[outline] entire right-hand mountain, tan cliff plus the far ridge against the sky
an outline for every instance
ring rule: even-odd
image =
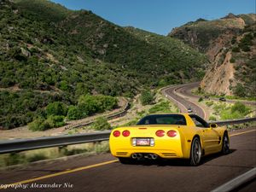
[[[255,14],[199,19],[173,29],[168,36],[207,55],[211,64],[201,81],[203,90],[217,95],[255,96],[255,21]]]

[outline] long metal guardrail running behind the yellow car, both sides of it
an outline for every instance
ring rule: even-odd
[[[235,119],[224,121],[212,121],[217,125],[235,125],[256,121],[256,118]],[[96,133],[84,133],[71,136],[38,137],[31,139],[15,139],[7,142],[0,142],[0,154],[14,153],[37,148],[61,147],[79,143],[95,143],[108,141],[110,131]]]

